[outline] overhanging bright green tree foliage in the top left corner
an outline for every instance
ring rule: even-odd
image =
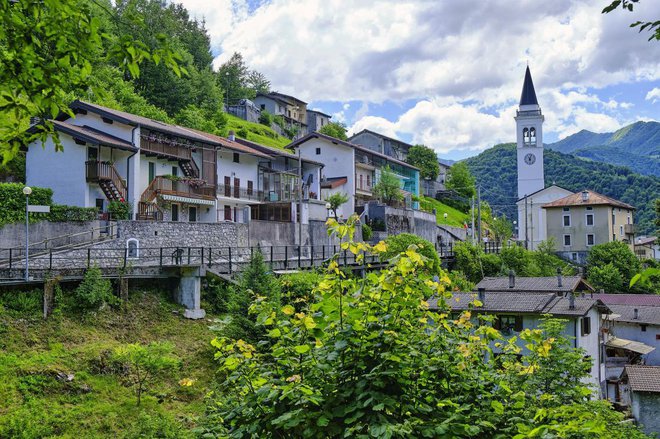
[[[109,9],[108,14],[114,15]],[[10,160],[19,148],[53,136],[52,123],[68,108],[70,92],[93,87],[92,66],[99,59],[116,62],[133,77],[140,64],[163,63],[180,75],[181,57],[164,34],[155,34],[157,45],[148,48],[132,35],[112,38],[100,31],[100,20],[90,4],[77,0],[0,1],[0,155]],[[105,45],[104,45],[105,44]],[[185,73],[185,72],[184,72]],[[30,117],[45,122],[27,132]]]

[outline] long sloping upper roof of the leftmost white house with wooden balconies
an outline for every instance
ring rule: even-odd
[[[213,140],[209,139],[208,137],[198,132],[195,132],[189,128],[182,127],[179,125],[160,122],[155,119],[149,119],[148,117],[138,116],[136,114],[115,110],[112,108],[104,107],[102,105],[92,104],[81,100],[76,100],[72,102],[70,106],[74,110],[91,111],[92,113],[99,114],[102,117],[107,117],[108,119],[115,120],[117,122],[121,122],[127,125],[134,125],[134,126],[140,125],[145,128],[171,134],[174,136],[179,136],[189,140],[215,145],[215,142],[213,142]],[[69,117],[68,115],[62,115],[61,117],[58,117],[58,120],[64,120],[67,119],[68,117]]]

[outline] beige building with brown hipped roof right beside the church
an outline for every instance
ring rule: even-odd
[[[560,256],[584,263],[597,244],[622,241],[634,250],[635,225],[629,204],[583,190],[545,204],[547,236],[554,238]]]

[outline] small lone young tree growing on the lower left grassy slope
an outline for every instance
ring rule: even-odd
[[[172,354],[171,343],[152,342],[148,345],[133,343],[115,348],[113,358],[126,367],[126,377],[135,388],[137,405],[140,406],[142,394],[158,378],[177,368],[180,361]]]

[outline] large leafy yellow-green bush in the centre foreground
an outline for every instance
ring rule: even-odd
[[[343,239],[352,221],[330,226]],[[387,245],[349,240],[342,249],[361,260]],[[515,338],[503,339],[492,318],[474,317],[478,301],[451,315],[449,280],[444,273],[434,280],[427,263],[409,248],[387,268],[354,278],[333,259],[305,309],[256,303],[271,342],[259,351],[243,340],[212,341],[220,382],[206,428],[233,438],[537,436],[533,431],[596,438],[620,421],[583,406],[590,404],[580,382],[583,353],[561,336],[561,322],[525,330],[530,361],[521,359]],[[437,310],[427,306],[429,297]],[[617,439],[643,437],[632,426],[612,431]]]

